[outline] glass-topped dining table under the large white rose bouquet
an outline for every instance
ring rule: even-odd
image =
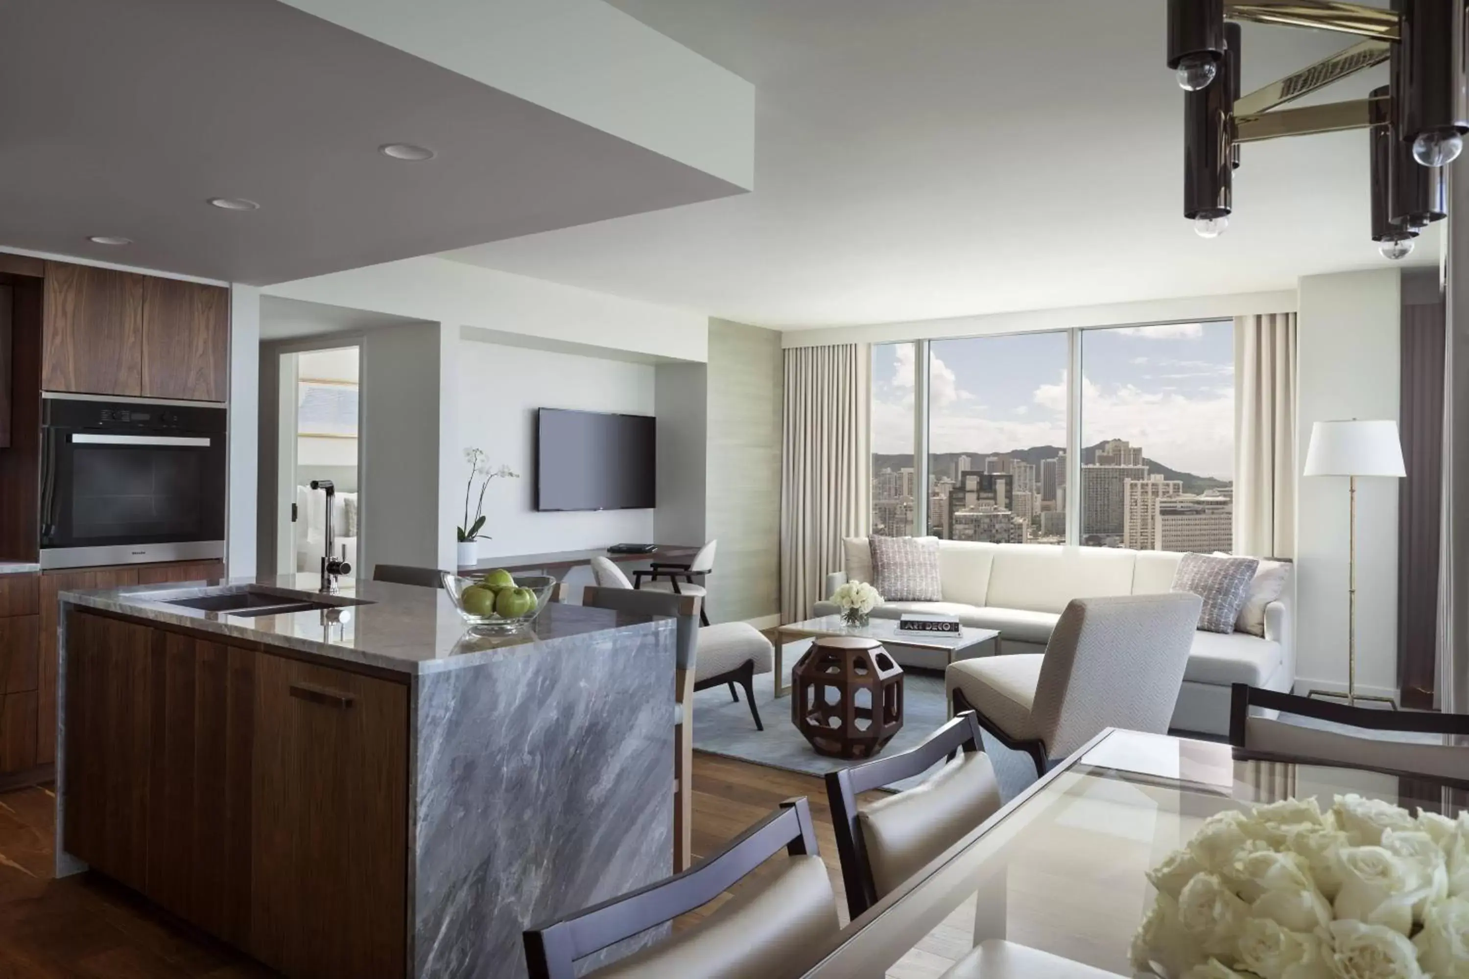
[[[1103,731],[852,922],[806,976],[937,979],[992,938],[1133,976],[1128,947],[1155,897],[1144,873],[1205,819],[1307,796],[1327,809],[1349,793],[1409,812],[1453,815],[1463,803],[1429,778]]]

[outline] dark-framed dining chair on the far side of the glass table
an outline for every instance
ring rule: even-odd
[[[1252,707],[1277,716],[1259,716],[1252,713]],[[1278,715],[1309,718],[1318,724],[1293,724]],[[1394,738],[1394,734],[1418,737]],[[1463,740],[1456,741],[1454,735]],[[1469,715],[1463,713],[1357,707],[1234,684],[1230,744],[1249,754],[1469,782]]]

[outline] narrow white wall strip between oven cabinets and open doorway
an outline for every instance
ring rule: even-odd
[[[254,577],[260,451],[260,289],[229,289],[229,577]]]

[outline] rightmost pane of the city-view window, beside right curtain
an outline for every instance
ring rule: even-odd
[[[1081,543],[1230,550],[1234,324],[1081,332]]]

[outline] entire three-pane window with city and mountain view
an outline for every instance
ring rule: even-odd
[[[876,343],[871,442],[874,534],[1230,550],[1232,323]]]

